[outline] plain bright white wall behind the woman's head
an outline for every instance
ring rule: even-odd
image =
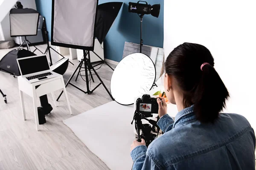
[[[165,56],[183,42],[206,46],[231,97],[228,113],[256,129],[256,1],[165,0]]]

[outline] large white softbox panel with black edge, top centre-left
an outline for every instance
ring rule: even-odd
[[[93,50],[98,0],[52,0],[52,45]]]

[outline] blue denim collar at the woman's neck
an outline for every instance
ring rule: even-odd
[[[182,125],[186,122],[195,121],[195,113],[194,113],[194,105],[190,106],[189,108],[185,108],[182,111],[178,112],[175,116],[175,122],[173,124],[174,128],[177,125]]]

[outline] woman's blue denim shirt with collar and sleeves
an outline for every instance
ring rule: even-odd
[[[241,115],[220,113],[201,123],[191,106],[157,125],[164,134],[131,151],[133,170],[255,170],[254,131]]]

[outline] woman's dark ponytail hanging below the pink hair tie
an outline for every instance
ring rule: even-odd
[[[216,70],[209,64],[202,67],[202,76],[195,90],[194,111],[200,122],[214,122],[225,108],[229,93]]]

